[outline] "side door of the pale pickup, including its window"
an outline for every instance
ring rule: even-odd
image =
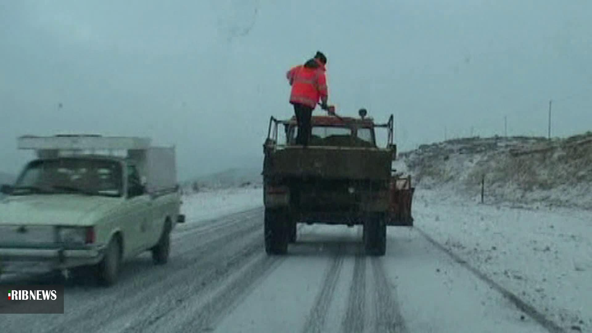
[[[141,184],[136,167],[128,165],[127,178],[127,228],[130,252],[137,254],[146,250],[150,244],[150,233],[153,233],[152,203],[153,200],[146,193]]]

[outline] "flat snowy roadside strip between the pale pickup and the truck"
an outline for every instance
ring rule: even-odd
[[[215,219],[263,206],[263,190],[256,188],[226,188],[186,193],[182,197],[181,212],[187,223]]]

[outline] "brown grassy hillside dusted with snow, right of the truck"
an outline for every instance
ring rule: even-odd
[[[466,138],[400,154],[418,188],[480,200],[592,209],[592,133],[567,139]]]

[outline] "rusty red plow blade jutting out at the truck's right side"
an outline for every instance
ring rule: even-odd
[[[391,182],[391,197],[388,207],[388,221],[390,226],[413,226],[411,216],[411,201],[415,188],[411,187],[411,176],[397,178]]]

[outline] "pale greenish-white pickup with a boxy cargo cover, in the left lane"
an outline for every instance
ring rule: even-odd
[[[0,273],[67,270],[109,286],[144,251],[168,261],[170,232],[185,222],[174,146],[56,135],[21,136],[18,148],[37,158],[1,188]]]

